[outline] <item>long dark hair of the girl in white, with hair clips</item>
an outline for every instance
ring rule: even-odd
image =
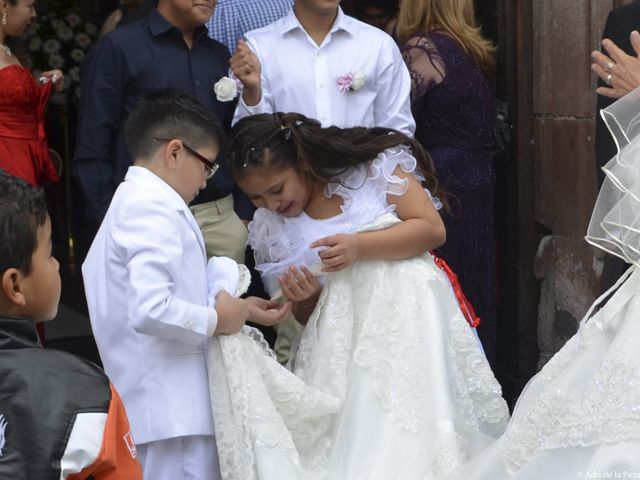
[[[398,145],[411,149],[425,178],[423,186],[441,197],[429,154],[413,138],[389,128],[322,128],[299,113],[253,115],[231,130],[226,160],[235,178],[246,175],[249,167],[280,170],[305,165],[316,179],[329,182]]]

